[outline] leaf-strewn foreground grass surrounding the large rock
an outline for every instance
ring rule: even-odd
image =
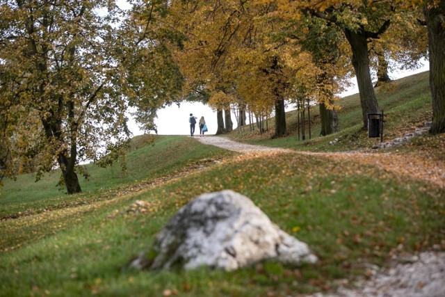
[[[203,179],[205,177],[205,179]],[[204,180],[204,182],[203,182]],[[122,270],[179,207],[231,188],[312,247],[314,266],[258,264],[221,271]],[[41,226],[46,233],[0,255],[2,296],[265,296],[310,293],[364,273],[397,252],[444,240],[445,191],[355,163],[299,154],[236,156],[165,184],[111,200],[2,222],[3,247]],[[151,207],[129,211],[135,200]],[[58,227],[63,225],[63,227]],[[168,291],[169,290],[169,291]]]

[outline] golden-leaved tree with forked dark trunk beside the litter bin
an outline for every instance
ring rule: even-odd
[[[276,1],[282,16],[300,18],[302,13],[325,19],[343,31],[352,51],[364,127],[367,114],[377,113],[369,65],[368,42],[380,38],[391,23],[394,8],[389,1]]]

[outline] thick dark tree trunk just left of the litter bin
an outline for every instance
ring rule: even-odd
[[[375,97],[373,81],[369,68],[369,52],[366,33],[362,30],[344,30],[351,50],[353,51],[353,66],[359,88],[360,104],[362,105],[363,127],[368,126],[368,113],[378,113],[377,97]]]

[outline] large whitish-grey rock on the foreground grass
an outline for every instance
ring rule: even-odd
[[[226,271],[264,259],[314,263],[306,243],[280,230],[253,202],[234,191],[200,195],[165,225],[154,246],[130,263],[133,268],[196,268]]]

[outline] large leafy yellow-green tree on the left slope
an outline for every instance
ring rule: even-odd
[[[106,165],[122,153],[127,105],[147,94],[140,77],[154,71],[143,66],[147,56],[162,59],[149,50],[161,43],[147,42],[136,19],[119,35],[125,15],[114,1],[2,1],[0,15],[0,99],[10,135],[41,154],[38,176],[58,166],[67,193],[79,193],[79,162]],[[145,51],[133,47],[143,44]],[[13,120],[26,125],[11,127]]]

